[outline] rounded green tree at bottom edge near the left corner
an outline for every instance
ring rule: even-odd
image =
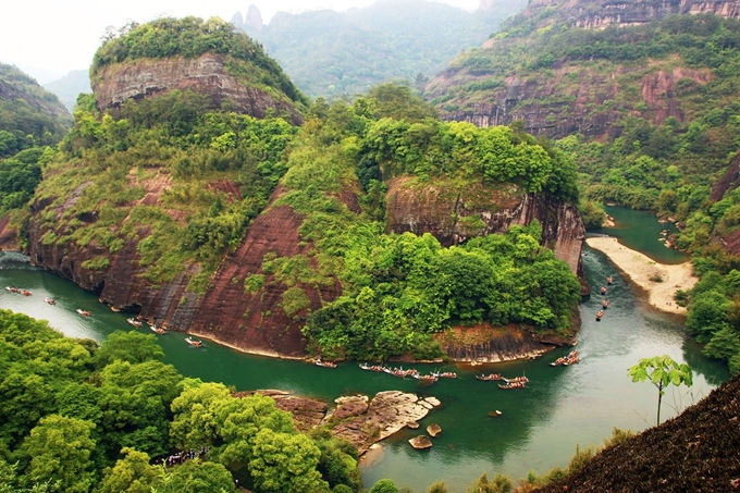
[[[91,459],[95,424],[51,415],[41,418],[24,441],[22,452],[30,458],[27,476],[49,481],[51,491],[87,493],[96,480]]]

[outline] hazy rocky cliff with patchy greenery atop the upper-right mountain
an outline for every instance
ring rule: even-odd
[[[445,120],[483,127],[520,120],[527,132],[551,138],[574,133],[616,137],[620,130],[615,123],[626,115],[654,124],[669,116],[684,122],[701,110],[696,95],[715,78],[711,67],[682,61],[678,46],[670,56],[639,54],[644,61],[634,63],[642,49],[638,46],[651,36],[648,32],[631,37],[626,32],[613,33],[608,42],[575,32],[641,26],[674,14],[703,13],[738,19],[740,3],[533,0],[499,35],[479,50],[460,54],[432,79],[425,97]],[[568,32],[572,49],[560,46],[547,52],[543,36],[555,37],[553,33],[559,32]],[[609,44],[634,47],[619,53],[613,47],[599,51]]]

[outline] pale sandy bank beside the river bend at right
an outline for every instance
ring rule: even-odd
[[[663,311],[686,313],[686,308],[676,305],[674,294],[678,289],[690,289],[699,281],[699,278],[693,275],[691,262],[676,266],[657,263],[612,237],[588,238],[585,243],[591,248],[606,254],[612,263],[617,266],[634,284],[643,288],[652,306]],[[663,282],[651,281],[651,278],[656,276],[659,276]]]

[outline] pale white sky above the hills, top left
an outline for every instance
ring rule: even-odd
[[[393,2],[394,0],[384,0]],[[435,0],[473,10],[479,0]],[[40,84],[72,70],[87,70],[108,26],[157,17],[231,21],[246,14],[250,4],[267,24],[278,11],[346,10],[367,7],[373,0],[8,0],[0,10],[0,62],[16,65]]]

